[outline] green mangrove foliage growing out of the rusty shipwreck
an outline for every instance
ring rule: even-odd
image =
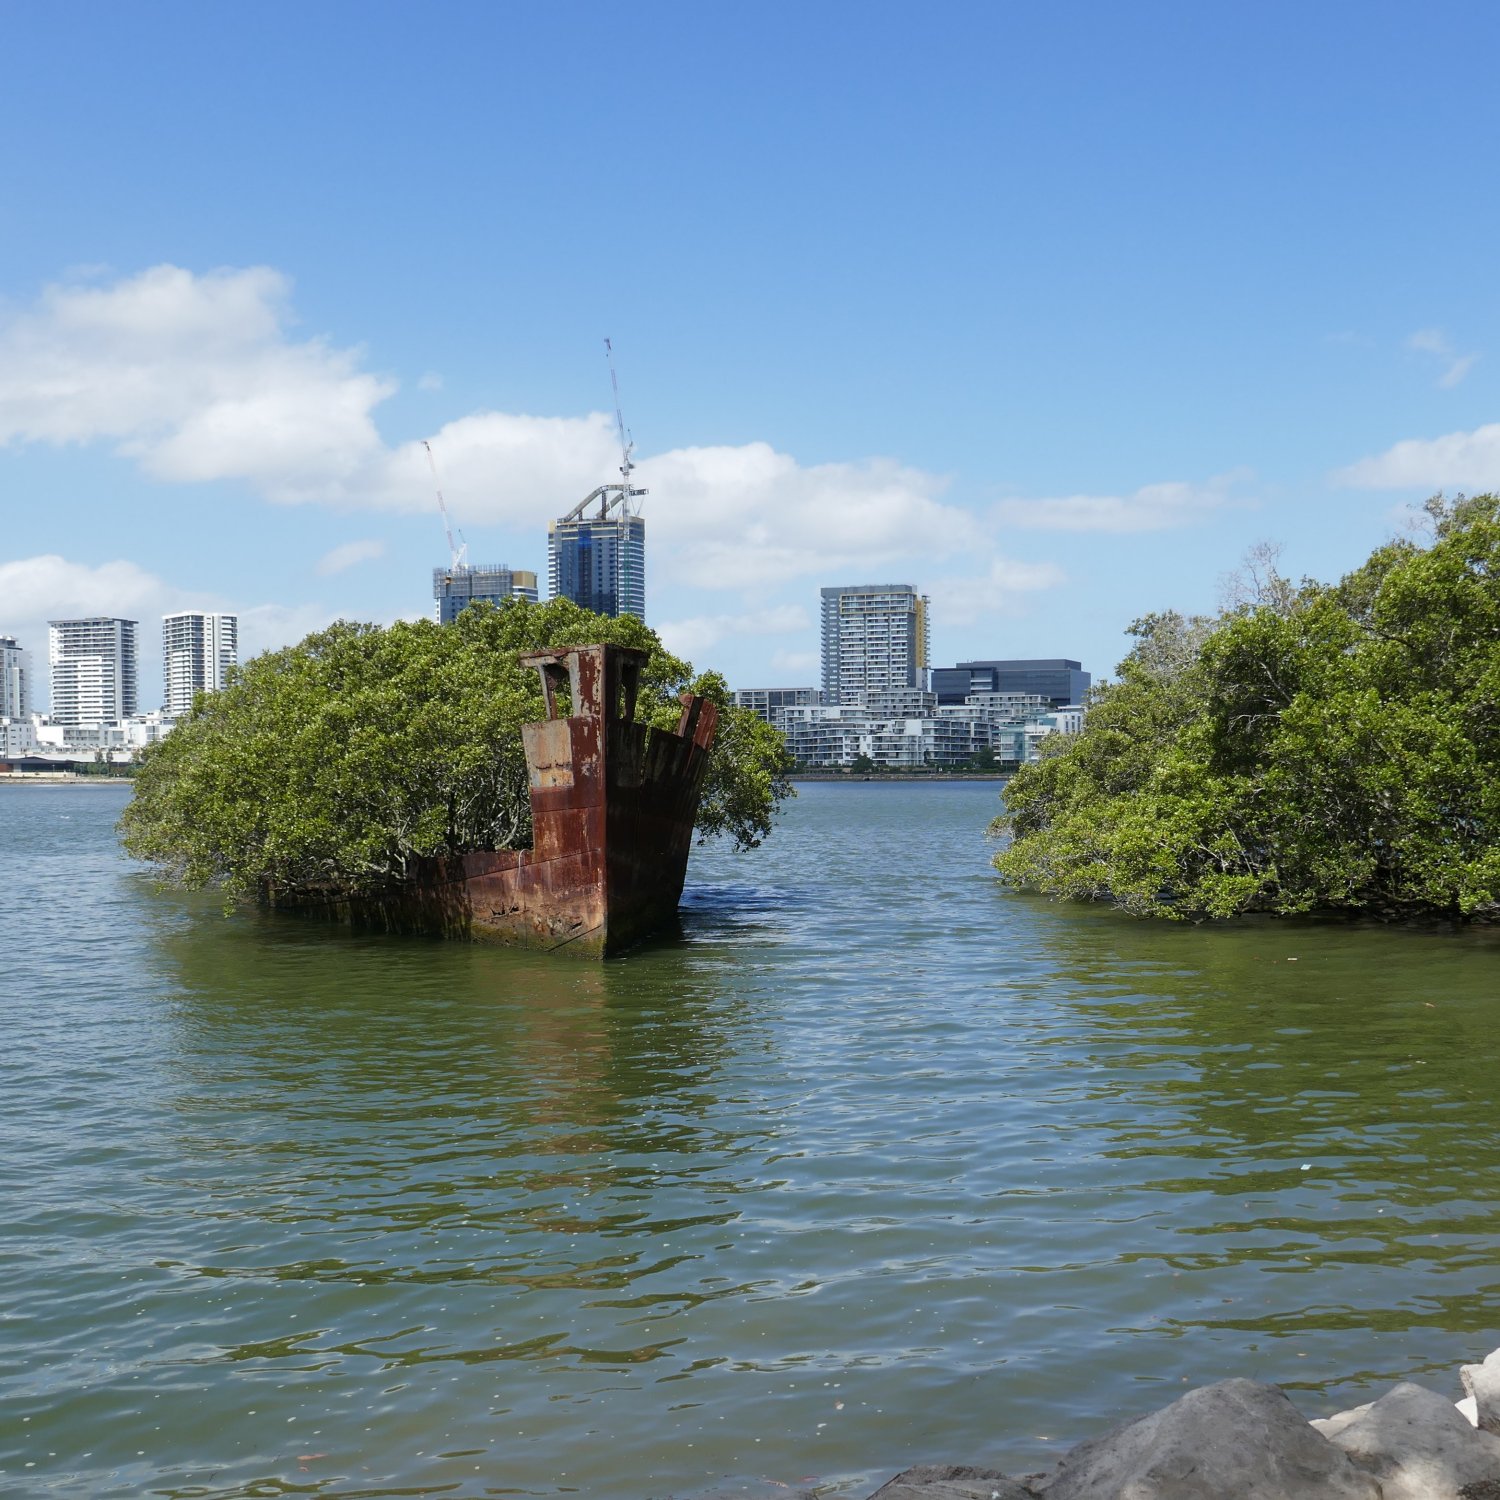
[[[778,730],[633,616],[510,600],[452,626],[339,622],[256,657],[146,754],[124,846],[172,884],[261,902],[376,892],[423,856],[525,848],[520,726],[546,714],[516,656],[594,642],[650,652],[645,723],[675,729],[682,692],[718,706],[698,831],[759,843],[790,792]]]

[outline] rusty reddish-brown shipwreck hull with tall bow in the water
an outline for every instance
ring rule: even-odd
[[[393,891],[321,915],[590,957],[674,926],[718,710],[684,693],[675,730],[636,723],[646,652],[630,646],[520,662],[542,674],[546,699],[546,718],[522,728],[532,846],[424,860]]]

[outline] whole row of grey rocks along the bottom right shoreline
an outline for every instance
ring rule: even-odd
[[[1048,1473],[924,1464],[868,1500],[1500,1500],[1500,1348],[1460,1380],[1458,1402],[1402,1382],[1312,1420],[1278,1386],[1221,1380],[1080,1443]]]

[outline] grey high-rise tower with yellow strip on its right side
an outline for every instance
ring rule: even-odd
[[[854,584],[822,592],[825,704],[926,690],[932,652],[926,594],[910,584]]]

